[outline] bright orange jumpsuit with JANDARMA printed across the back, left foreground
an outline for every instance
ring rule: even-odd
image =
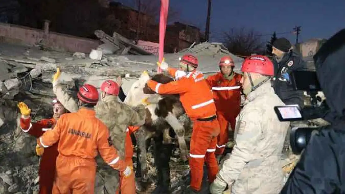
[[[106,125],[95,114],[87,108],[63,114],[54,129],[37,140],[45,148],[59,141],[54,194],[94,193],[97,150],[115,170],[122,173],[126,169],[125,162],[120,160],[112,145]]]

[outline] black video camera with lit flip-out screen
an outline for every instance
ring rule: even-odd
[[[293,71],[292,84],[295,90],[306,91],[311,97],[311,105],[301,109],[296,105],[275,106],[279,121],[302,121],[323,118],[329,110],[326,101],[322,101],[317,93],[321,91],[315,71]],[[290,133],[290,145],[294,154],[300,154],[312,135],[319,127],[293,127]]]

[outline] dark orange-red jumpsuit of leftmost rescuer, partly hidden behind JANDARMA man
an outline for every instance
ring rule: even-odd
[[[29,118],[20,118],[20,128],[23,132],[38,138],[56,124],[55,119],[42,119],[37,123],[31,123]],[[41,156],[40,167],[38,170],[40,194],[51,194],[55,177],[55,164],[58,157],[58,144],[47,147]]]

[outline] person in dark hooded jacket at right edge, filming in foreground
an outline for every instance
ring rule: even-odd
[[[309,140],[280,194],[345,193],[345,29],[314,56],[317,78],[326,96],[328,126]]]

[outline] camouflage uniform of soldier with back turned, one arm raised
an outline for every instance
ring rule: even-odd
[[[69,94],[62,89],[62,85],[58,81],[60,70],[58,68],[53,80],[53,92],[57,96],[57,99],[63,104],[70,112],[77,112],[79,109],[78,104],[69,96]],[[109,83],[114,81],[107,80]],[[107,85],[105,81],[102,85]],[[120,159],[124,160],[125,157],[125,141],[126,141],[126,129],[127,126],[141,126],[145,123],[146,111],[144,105],[138,105],[134,110],[127,104],[123,104],[118,101],[117,95],[109,95],[108,87],[101,88],[101,101],[95,106],[96,117],[100,119],[109,129],[109,134],[112,144],[118,150]],[[118,90],[118,89],[117,89]],[[118,94],[118,91],[117,91]],[[99,174],[96,176],[96,187],[98,184],[102,184],[100,176],[104,180],[104,192],[113,194],[117,192],[119,183],[119,173],[111,169],[109,165],[103,162],[98,156],[97,171]],[[132,185],[135,188],[135,185]],[[99,188],[95,188],[95,193]],[[131,194],[131,193],[128,193]],[[133,193],[134,194],[134,193]]]

